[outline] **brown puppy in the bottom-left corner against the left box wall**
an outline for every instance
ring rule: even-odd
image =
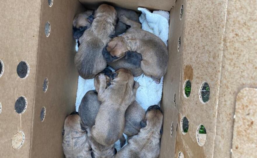
[[[62,148],[66,158],[91,157],[87,132],[81,124],[78,114],[72,113],[65,118]]]

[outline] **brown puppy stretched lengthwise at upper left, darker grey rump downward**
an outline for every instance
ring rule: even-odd
[[[79,50],[75,55],[75,67],[84,79],[94,78],[107,66],[102,51],[114,34],[116,25],[116,10],[107,4],[102,4],[95,11],[94,20],[89,29],[79,38]]]

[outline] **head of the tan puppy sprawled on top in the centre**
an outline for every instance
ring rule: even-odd
[[[128,69],[118,69],[115,72],[112,72],[112,82],[133,82],[134,84],[134,78],[133,75],[131,73],[131,71],[129,71]]]

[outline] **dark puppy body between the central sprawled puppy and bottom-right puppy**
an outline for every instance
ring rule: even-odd
[[[125,112],[124,134],[133,136],[138,134],[141,129],[140,122],[145,119],[145,110],[135,101]]]

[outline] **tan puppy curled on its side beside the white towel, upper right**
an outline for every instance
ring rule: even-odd
[[[103,52],[104,56],[110,56],[107,62],[116,61],[129,51],[138,52],[142,55],[140,66],[144,74],[159,83],[168,66],[166,45],[159,37],[142,30],[140,23],[129,20],[125,16],[121,16],[119,21],[130,25],[131,28],[108,43],[107,52]]]

